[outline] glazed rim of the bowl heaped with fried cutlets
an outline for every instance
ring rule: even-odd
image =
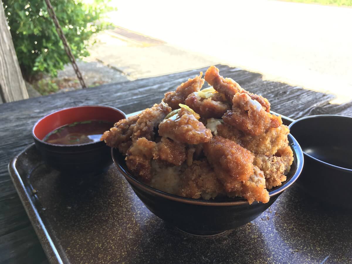
[[[300,146],[300,144],[298,144],[297,140],[291,134],[289,134],[289,137],[292,140],[292,143],[290,143],[289,145],[293,149],[294,157],[296,157],[296,162],[297,162],[296,172],[288,181],[285,181],[281,186],[275,187],[274,190],[269,191],[270,197],[276,196],[276,195],[282,193],[288,187],[290,187],[297,180],[298,176],[300,176],[302,169],[303,169],[304,159],[303,159],[303,151],[301,149],[301,146]],[[169,200],[179,201],[179,202],[183,202],[183,203],[190,203],[190,204],[194,204],[194,205],[231,206],[231,205],[249,204],[248,201],[245,200],[244,198],[239,198],[236,201],[233,201],[233,200],[232,201],[201,200],[201,199],[186,198],[186,197],[182,197],[182,196],[178,196],[178,195],[174,195],[174,194],[169,194],[169,193],[165,193],[164,191],[157,190],[155,188],[152,188],[152,187],[136,180],[134,177],[132,177],[132,175],[130,175],[129,172],[127,172],[124,168],[122,168],[120,163],[115,159],[114,151],[118,151],[118,150],[111,148],[111,156],[112,156],[112,159],[113,159],[115,166],[118,168],[118,170],[121,172],[121,174],[126,178],[126,180],[128,182],[130,182],[130,183],[133,182],[133,184],[136,184],[139,188],[142,188],[149,193],[164,197]],[[131,186],[132,186],[132,184],[131,184]],[[235,198],[235,199],[237,199],[237,198]],[[254,201],[252,204],[254,204],[254,203],[258,203],[258,202]]]

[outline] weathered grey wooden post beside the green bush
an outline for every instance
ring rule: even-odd
[[[0,103],[27,99],[28,93],[18,64],[4,7],[0,0]]]

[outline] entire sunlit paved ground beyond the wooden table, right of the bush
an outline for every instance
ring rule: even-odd
[[[273,0],[113,1],[80,62],[89,86],[224,63],[352,100],[352,8]],[[135,32],[133,32],[135,31]],[[70,65],[59,86],[79,88]]]

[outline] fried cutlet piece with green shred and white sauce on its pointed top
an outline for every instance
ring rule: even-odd
[[[212,132],[184,108],[160,123],[159,135],[187,144],[204,143],[212,138]]]

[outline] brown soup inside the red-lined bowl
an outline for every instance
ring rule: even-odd
[[[43,141],[56,145],[79,145],[100,140],[102,134],[114,124],[104,120],[74,122],[56,128],[47,134]]]

